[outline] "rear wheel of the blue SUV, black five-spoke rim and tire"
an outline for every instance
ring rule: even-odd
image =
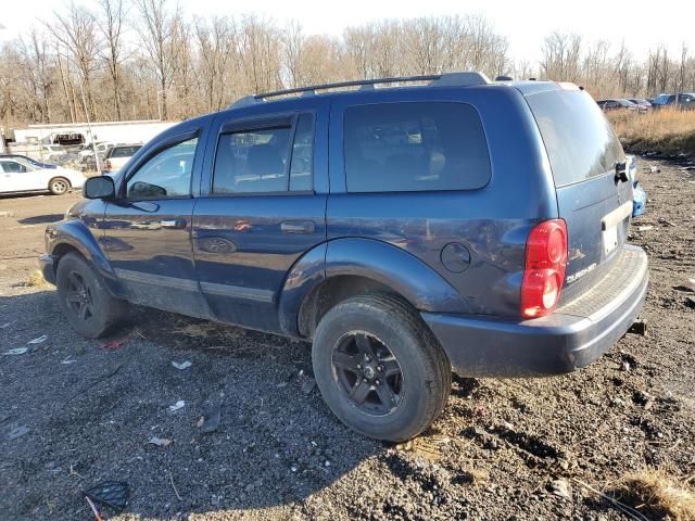
[[[355,366],[358,359],[369,360]],[[437,339],[409,305],[387,295],[356,296],[331,308],[316,328],[312,360],[330,409],[377,440],[403,442],[421,433],[444,409],[452,386],[451,364]]]

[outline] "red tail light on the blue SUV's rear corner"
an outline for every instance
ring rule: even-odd
[[[536,225],[526,241],[526,266],[521,282],[521,315],[543,317],[560,300],[567,267],[567,225],[563,219]]]

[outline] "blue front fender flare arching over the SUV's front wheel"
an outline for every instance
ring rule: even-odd
[[[62,254],[61,250],[67,245],[75,249],[102,277],[109,292],[118,297],[125,295],[121,282],[116,278],[99,240],[91,229],[99,233],[97,221],[91,226],[79,218],[71,218],[49,225],[46,228],[46,252],[51,255]]]

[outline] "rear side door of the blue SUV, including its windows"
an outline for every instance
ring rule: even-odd
[[[193,253],[219,320],[279,331],[288,271],[326,240],[328,105],[315,103],[242,122],[223,113],[211,131]]]

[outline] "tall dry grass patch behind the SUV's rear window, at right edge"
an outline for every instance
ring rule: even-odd
[[[695,111],[616,111],[608,113],[608,119],[623,144],[635,152],[695,155]]]

